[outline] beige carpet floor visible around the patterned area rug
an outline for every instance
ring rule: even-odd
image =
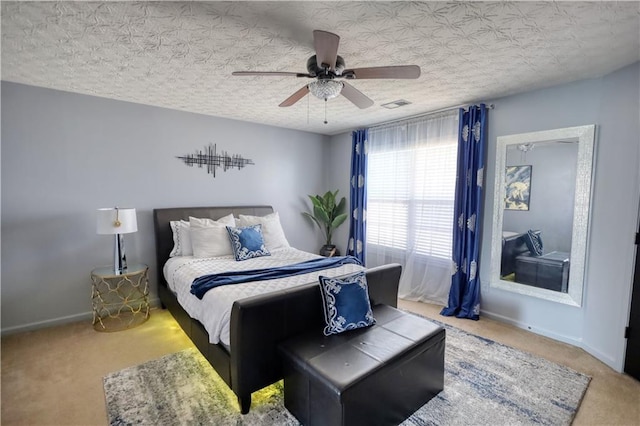
[[[438,315],[440,307],[400,307],[540,355],[592,377],[574,425],[640,425],[640,382],[581,349],[482,318]],[[98,333],[75,323],[2,338],[3,425],[105,425],[102,379],[110,372],[193,347],[167,311],[145,324]]]

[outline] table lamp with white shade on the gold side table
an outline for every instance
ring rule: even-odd
[[[121,209],[118,207],[98,209],[98,234],[113,234],[114,242],[114,263],[113,270],[116,275],[127,270],[127,256],[124,252],[124,236],[138,231],[136,220],[136,209]]]

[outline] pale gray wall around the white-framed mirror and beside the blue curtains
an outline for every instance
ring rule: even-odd
[[[583,347],[618,371],[624,364],[640,204],[639,86],[640,64],[636,63],[603,78],[488,100],[495,109],[489,112],[484,180],[482,314]],[[597,125],[597,146],[583,306],[491,288],[496,138],[586,124]],[[331,138],[331,158],[338,167],[348,161],[343,159],[349,155],[350,141],[347,133]],[[348,175],[348,170],[334,168],[334,186],[348,190]]]

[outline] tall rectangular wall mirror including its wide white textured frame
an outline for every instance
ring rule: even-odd
[[[582,305],[594,144],[595,125],[498,137],[491,287]]]

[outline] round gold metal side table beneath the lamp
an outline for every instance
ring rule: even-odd
[[[91,271],[93,328],[119,331],[149,319],[149,268],[142,263],[131,265],[122,274],[113,267]]]

